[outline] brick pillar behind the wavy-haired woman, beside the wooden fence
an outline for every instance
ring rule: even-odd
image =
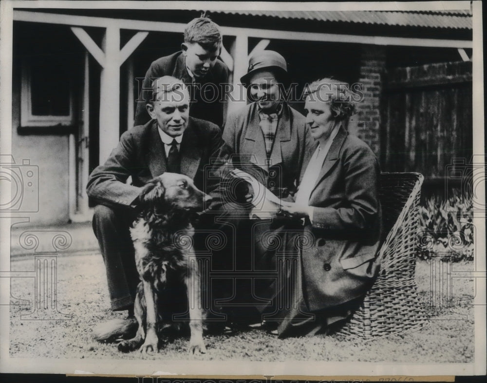
[[[362,45],[360,76],[363,100],[357,105],[353,129],[349,130],[365,141],[379,158],[382,81],[385,68],[385,47]]]

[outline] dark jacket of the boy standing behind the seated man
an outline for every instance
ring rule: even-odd
[[[161,57],[150,64],[149,70],[140,91],[137,109],[135,111],[134,126],[144,125],[150,120],[146,110],[147,101],[152,99],[152,80],[163,76],[180,78],[190,85],[192,78],[187,73],[186,60],[183,53],[176,52],[170,56]],[[228,68],[219,58],[204,79],[198,80],[191,87],[191,103],[189,115],[217,124],[220,128],[224,122],[225,86],[228,82]],[[210,85],[207,85],[210,84]],[[216,94],[218,93],[218,94]],[[209,102],[208,102],[209,101]]]

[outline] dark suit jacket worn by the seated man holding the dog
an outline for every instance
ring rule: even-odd
[[[215,124],[189,117],[180,146],[181,173],[194,180],[196,187],[214,200],[210,208],[220,206],[220,179],[230,148]],[[155,120],[122,134],[118,146],[105,164],[91,173],[86,191],[91,205],[131,207],[143,187],[152,178],[166,172],[164,144]],[[126,181],[132,177],[131,184]]]

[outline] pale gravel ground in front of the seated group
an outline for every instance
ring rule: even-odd
[[[73,359],[150,359],[150,360],[246,360],[261,362],[340,361],[340,362],[413,362],[471,363],[474,357],[472,278],[452,280],[451,308],[430,309],[430,266],[417,264],[418,292],[431,314],[431,321],[419,331],[373,341],[350,340],[342,336],[315,336],[280,340],[262,330],[241,331],[231,335],[206,336],[208,352],[186,354],[187,338],[167,343],[158,354],[139,352],[121,354],[113,344],[92,340],[92,326],[122,313],[109,309],[103,261],[99,254],[59,256],[58,310],[72,314],[67,321],[21,320],[32,311],[33,278],[13,278],[12,295],[30,300],[31,305],[11,306],[10,355],[15,358]],[[12,261],[12,270],[33,270],[32,257]],[[453,270],[472,270],[473,263],[453,264]],[[35,346],[33,346],[35,345]]]

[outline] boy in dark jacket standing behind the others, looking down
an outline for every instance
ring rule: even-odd
[[[221,50],[222,35],[218,25],[208,18],[191,20],[184,32],[181,51],[150,64],[137,101],[134,126],[150,120],[146,103],[153,96],[152,80],[172,76],[189,86],[192,101],[189,114],[222,128],[228,68],[218,58]]]

